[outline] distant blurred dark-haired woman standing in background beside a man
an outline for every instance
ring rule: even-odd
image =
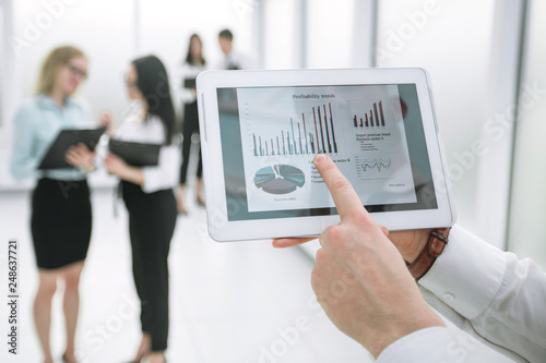
[[[179,70],[180,87],[182,88],[181,98],[183,102],[183,123],[182,123],[182,166],[180,168],[180,180],[177,194],[178,211],[186,214],[186,179],[188,174],[188,161],[190,157],[191,136],[199,134],[198,101],[195,94],[195,77],[205,69],[205,59],[203,58],[203,44],[197,34],[192,34],[188,46],[186,61]],[[204,205],[202,195],[202,174],[203,164],[201,161],[201,149],[199,152],[199,161],[195,180],[195,201],[199,205]]]

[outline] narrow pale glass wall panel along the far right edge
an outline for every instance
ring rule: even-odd
[[[546,269],[546,3],[531,1],[515,125],[509,247]]]

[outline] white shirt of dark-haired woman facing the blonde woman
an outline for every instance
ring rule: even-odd
[[[146,120],[139,117],[138,108],[133,107],[123,123],[116,131],[116,140],[144,143],[164,144],[165,128],[156,116],[150,116]],[[142,168],[144,184],[142,191],[153,193],[178,185],[178,173],[180,170],[180,150],[177,145],[165,145],[159,150],[157,166]]]

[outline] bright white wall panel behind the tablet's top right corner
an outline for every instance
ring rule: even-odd
[[[466,155],[486,119],[495,1],[384,0],[379,5],[378,65],[429,72],[458,221],[480,231],[478,164]]]

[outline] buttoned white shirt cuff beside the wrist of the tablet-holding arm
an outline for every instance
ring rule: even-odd
[[[449,243],[419,285],[473,319],[495,299],[506,265],[505,252],[454,226]]]

